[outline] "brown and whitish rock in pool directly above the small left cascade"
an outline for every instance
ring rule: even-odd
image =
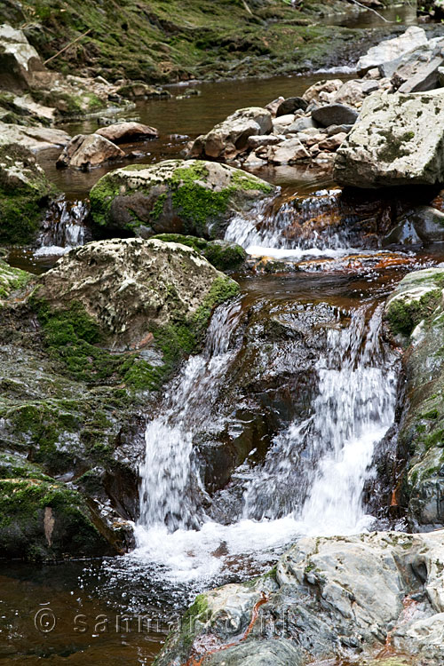
[[[76,134],[59,155],[56,165],[88,170],[124,156],[123,150],[99,134]]]

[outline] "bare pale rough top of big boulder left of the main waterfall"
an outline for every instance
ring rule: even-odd
[[[168,333],[170,344],[177,345],[174,330],[184,326],[191,338],[188,348],[176,353],[189,353],[189,343],[197,342],[212,308],[238,291],[236,282],[195,250],[136,238],[91,242],[71,250],[40,284],[39,297],[52,310],[81,303],[99,327],[102,344],[116,351],[155,347]]]

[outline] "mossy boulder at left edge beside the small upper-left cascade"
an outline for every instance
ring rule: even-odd
[[[0,242],[32,242],[52,194],[54,187],[27,148],[0,147]]]

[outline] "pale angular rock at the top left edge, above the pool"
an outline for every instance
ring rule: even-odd
[[[0,26],[0,87],[20,91],[49,83],[51,75],[22,30]]]

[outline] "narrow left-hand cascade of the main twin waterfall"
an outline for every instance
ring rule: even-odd
[[[169,386],[162,415],[147,425],[140,468],[139,524],[170,531],[199,527],[205,491],[194,464],[193,434],[213,419],[213,407],[235,350],[231,338],[241,318],[239,300],[218,307],[203,352],[192,356]]]

